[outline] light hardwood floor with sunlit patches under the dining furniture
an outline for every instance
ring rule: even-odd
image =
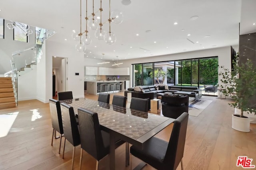
[[[86,94],[86,98],[97,100],[98,96]],[[203,99],[213,102],[198,117],[189,116],[184,169],[241,170],[241,167],[236,167],[238,156],[248,156],[256,165],[256,125],[250,125],[249,133],[236,131],[231,127],[234,108],[228,106],[230,100],[210,96],[203,96]],[[0,170],[71,169],[72,145],[66,142],[64,159],[63,147],[61,154],[58,154],[60,139],[54,139],[53,146],[50,145],[52,125],[49,104],[38,100],[21,101],[16,108],[0,110],[0,123],[0,136],[8,132],[8,135],[0,137]],[[172,124],[156,136],[168,141],[171,131]],[[79,169],[79,146],[75,155],[74,168]],[[125,167],[124,158],[125,146],[122,145],[116,149],[116,170],[129,169]],[[140,160],[132,157],[132,162],[134,167]],[[84,151],[82,169],[93,170],[95,167],[96,160]],[[108,169],[108,156],[100,161],[99,169]],[[150,166],[144,168],[152,169]],[[181,169],[180,165],[177,169]]]

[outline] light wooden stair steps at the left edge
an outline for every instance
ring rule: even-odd
[[[0,77],[0,109],[16,107],[11,77]]]

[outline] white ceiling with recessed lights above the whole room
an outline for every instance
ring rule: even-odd
[[[85,57],[100,59],[104,53],[106,60],[116,60],[116,56],[123,60],[238,45],[240,18],[244,19],[241,33],[256,29],[256,25],[252,25],[256,22],[253,9],[256,1],[246,1],[249,4],[241,5],[241,0],[132,0],[130,5],[124,6],[121,0],[112,0],[111,10],[118,9],[124,14],[121,24],[111,24],[117,41],[114,45],[107,45],[94,38],[94,31],[88,30],[92,43],[86,47]],[[82,0],[82,18],[85,16],[85,2]],[[95,0],[94,11],[100,7],[99,2]],[[102,4],[102,20],[106,21],[108,1],[103,0]],[[245,12],[241,16],[241,6],[248,14]],[[71,35],[72,30],[80,32],[79,0],[1,0],[0,9],[0,18],[56,31],[48,41],[68,43],[74,48],[78,43]],[[90,13],[92,0],[88,0]],[[198,16],[198,19],[191,20],[192,16]],[[174,22],[178,24],[174,25]],[[108,23],[103,28],[108,31]],[[84,30],[83,19],[82,32]],[[151,31],[146,33],[146,30]]]

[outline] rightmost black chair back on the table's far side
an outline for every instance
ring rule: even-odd
[[[130,109],[148,112],[148,100],[141,98],[132,98]]]

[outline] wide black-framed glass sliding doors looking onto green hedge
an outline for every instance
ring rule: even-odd
[[[217,95],[218,57],[134,64],[134,86],[168,84],[196,86],[206,95]],[[154,70],[154,71],[153,71]]]

